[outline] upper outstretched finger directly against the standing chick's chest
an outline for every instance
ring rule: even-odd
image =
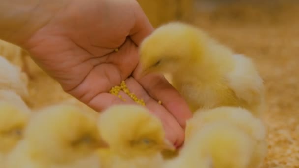
[[[149,74],[141,78],[139,83],[151,97],[161,100],[162,105],[174,115],[181,127],[185,128],[186,120],[192,117],[192,113],[179,92],[163,75]]]

